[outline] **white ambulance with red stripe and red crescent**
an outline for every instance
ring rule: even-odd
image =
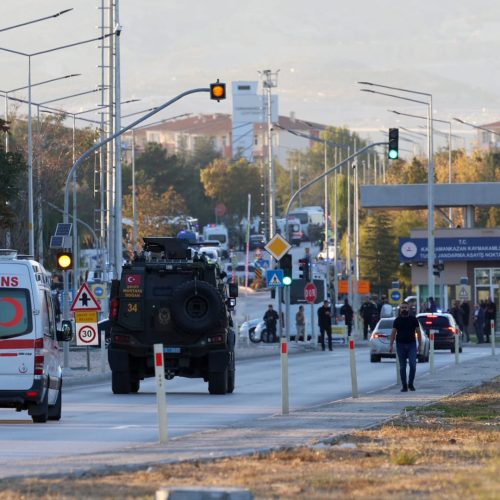
[[[28,410],[33,422],[61,418],[62,368],[51,276],[15,250],[0,250],[0,408]]]

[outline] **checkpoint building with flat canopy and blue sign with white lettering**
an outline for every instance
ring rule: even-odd
[[[462,210],[463,228],[436,229],[436,276],[433,292],[427,286],[427,230],[412,230],[400,238],[400,262],[411,265],[411,280],[420,304],[429,296],[443,309],[453,300],[500,301],[500,228],[476,228],[474,208],[500,205],[500,183],[435,184],[436,213]],[[361,186],[361,206],[382,210],[423,210],[427,208],[427,184]],[[469,294],[467,296],[467,293]],[[497,307],[497,311],[500,307]],[[498,324],[498,323],[497,323]]]

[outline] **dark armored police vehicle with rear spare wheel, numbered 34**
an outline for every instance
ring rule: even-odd
[[[191,246],[190,246],[191,245]],[[210,394],[232,393],[238,286],[185,239],[144,238],[110,296],[108,349],[112,390],[128,394],[153,377],[154,344],[163,344],[165,376],[203,378]]]

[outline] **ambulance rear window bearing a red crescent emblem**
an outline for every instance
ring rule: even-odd
[[[31,301],[26,289],[0,288],[0,339],[31,332]]]

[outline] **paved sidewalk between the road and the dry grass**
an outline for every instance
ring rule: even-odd
[[[213,459],[283,447],[328,444],[341,435],[379,425],[407,407],[424,406],[481,385],[500,375],[500,356],[485,355],[459,365],[423,375],[417,392],[401,393],[392,385],[359,398],[346,398],[328,404],[273,415],[218,430],[173,438],[164,445],[149,444],[117,452],[65,457],[36,464],[42,474],[82,474],[90,470],[145,468],[159,463]],[[29,471],[29,463],[25,464]],[[8,473],[7,473],[8,474]]]

